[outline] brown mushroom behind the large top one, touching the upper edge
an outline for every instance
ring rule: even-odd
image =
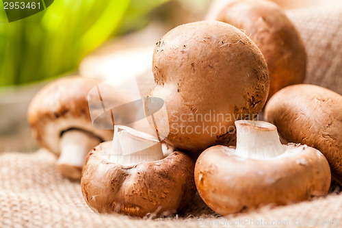
[[[293,23],[276,3],[233,1],[220,12],[217,20],[245,30],[259,47],[269,69],[269,97],[285,86],[304,81],[304,44]]]

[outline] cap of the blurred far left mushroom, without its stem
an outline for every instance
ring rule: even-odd
[[[79,129],[97,138],[110,140],[112,130],[96,129],[88,107],[88,92],[101,81],[88,77],[57,79],[38,92],[29,105],[27,118],[41,147],[60,153],[64,131]]]

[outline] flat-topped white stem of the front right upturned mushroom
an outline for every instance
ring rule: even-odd
[[[285,153],[276,126],[264,121],[235,121],[236,153],[241,157],[267,160]]]

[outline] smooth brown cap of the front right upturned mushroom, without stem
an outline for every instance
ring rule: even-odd
[[[222,216],[326,195],[330,187],[326,158],[311,147],[298,149],[302,153],[291,157],[252,160],[237,157],[228,147],[211,147],[196,162],[198,193]]]

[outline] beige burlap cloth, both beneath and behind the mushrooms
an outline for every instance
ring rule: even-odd
[[[342,93],[342,8],[302,8],[288,12],[308,53],[306,82]],[[61,177],[55,157],[0,153],[0,227],[342,227],[342,195],[222,218],[198,197],[169,218],[96,214],[83,201],[78,182]]]

